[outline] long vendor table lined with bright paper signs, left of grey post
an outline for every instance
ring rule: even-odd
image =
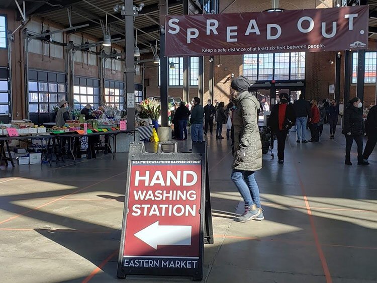
[[[61,147],[62,139],[66,139],[66,138],[69,139],[69,141],[68,141],[69,151],[72,154],[74,164],[76,164],[75,150],[72,150],[72,148],[71,148],[72,139],[79,139],[79,138],[82,138],[82,137],[88,138],[87,158],[91,159],[92,154],[94,155],[94,157],[96,157],[95,152],[94,152],[94,143],[93,143],[93,140],[91,138],[92,137],[99,137],[99,136],[102,136],[102,135],[105,136],[105,140],[107,138],[112,138],[113,139],[113,147],[112,147],[111,152],[113,154],[113,159],[114,159],[116,148],[117,148],[117,135],[123,134],[123,133],[128,134],[128,135],[133,136],[134,141],[135,141],[135,132],[136,132],[135,130],[116,130],[116,131],[96,132],[96,133],[88,133],[88,134],[78,134],[78,133],[74,133],[74,132],[62,132],[62,133],[58,133],[58,134],[52,133],[51,135],[56,137],[56,139],[54,139],[53,147],[55,147],[56,140],[57,140],[58,146]],[[111,149],[110,146],[109,146],[109,141],[106,141],[105,143],[106,143],[106,149]],[[79,146],[76,144],[75,149],[77,149],[77,147],[79,149]]]

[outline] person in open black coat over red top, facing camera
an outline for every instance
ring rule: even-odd
[[[279,163],[284,163],[284,149],[288,131],[296,124],[296,113],[293,105],[288,101],[288,93],[280,93],[280,102],[276,104],[268,119],[269,126],[277,137],[277,158]]]

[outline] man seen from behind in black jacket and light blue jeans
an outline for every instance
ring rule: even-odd
[[[305,100],[304,95],[300,95],[300,99],[293,104],[296,113],[297,142],[307,143],[306,140],[306,124],[312,117],[310,103]]]

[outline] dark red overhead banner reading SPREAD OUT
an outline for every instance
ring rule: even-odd
[[[166,16],[165,56],[366,49],[368,7]]]

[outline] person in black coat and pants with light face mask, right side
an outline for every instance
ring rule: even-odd
[[[343,131],[346,139],[346,157],[345,164],[352,165],[351,163],[351,147],[353,140],[357,144],[357,164],[368,165],[362,158],[362,136],[364,134],[364,124],[362,120],[362,103],[359,98],[353,98],[349,102],[349,106],[344,110],[343,117]]]

